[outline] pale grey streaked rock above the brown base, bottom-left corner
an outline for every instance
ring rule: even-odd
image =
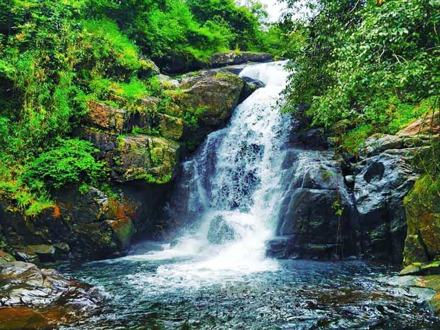
[[[2,307],[49,305],[97,306],[103,298],[90,285],[65,278],[54,270],[14,261],[0,267]]]

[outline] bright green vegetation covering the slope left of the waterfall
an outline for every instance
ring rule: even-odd
[[[232,0],[0,1],[0,195],[36,214],[52,190],[104,180],[96,150],[74,138],[87,104],[137,111],[158,96],[165,108],[170,96],[148,58],[264,50],[264,16]]]

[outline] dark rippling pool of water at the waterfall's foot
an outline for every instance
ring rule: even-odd
[[[63,266],[107,296],[61,329],[439,329],[419,298],[361,261],[267,261],[266,270],[215,270],[196,256],[160,254]],[[266,265],[267,266],[267,265]]]

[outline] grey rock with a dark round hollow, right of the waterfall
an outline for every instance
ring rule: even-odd
[[[410,164],[417,149],[391,149],[357,164],[354,197],[366,254],[401,261],[406,235],[403,200],[418,175]]]

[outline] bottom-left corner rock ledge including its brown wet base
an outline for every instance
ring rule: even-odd
[[[7,261],[8,260],[8,261]],[[98,309],[104,298],[91,285],[54,270],[13,260],[0,251],[0,329],[52,329]]]

